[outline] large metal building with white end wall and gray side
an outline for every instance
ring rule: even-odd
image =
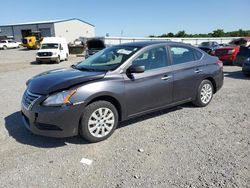
[[[0,25],[0,36],[13,36],[17,42],[32,31],[40,31],[43,37],[64,37],[67,42],[79,37],[95,37],[95,26],[77,18]]]

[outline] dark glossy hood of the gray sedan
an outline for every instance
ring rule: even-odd
[[[73,68],[51,70],[30,79],[27,82],[28,90],[34,94],[47,95],[77,84],[102,79],[105,74],[105,72],[86,72]]]

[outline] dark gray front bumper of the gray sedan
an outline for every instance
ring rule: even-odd
[[[21,113],[25,127],[37,135],[71,137],[78,134],[82,105],[44,107],[34,105],[31,110],[22,104]]]

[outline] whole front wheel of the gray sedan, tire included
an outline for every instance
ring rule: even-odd
[[[100,142],[113,134],[117,124],[118,112],[115,106],[107,101],[96,101],[85,108],[79,133],[89,142]]]

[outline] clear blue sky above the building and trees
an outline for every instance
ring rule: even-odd
[[[250,0],[4,0],[0,25],[79,18],[96,36],[250,30]]]

